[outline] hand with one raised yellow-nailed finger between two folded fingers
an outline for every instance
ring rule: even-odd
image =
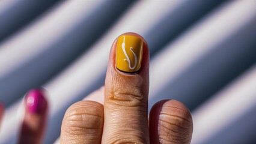
[[[109,55],[105,92],[93,93],[105,96],[104,106],[85,100],[70,106],[62,121],[61,143],[190,143],[192,116],[182,103],[159,101],[148,120],[148,71],[144,38],[134,33],[118,37]]]

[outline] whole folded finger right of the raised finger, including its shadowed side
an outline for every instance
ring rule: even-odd
[[[163,100],[150,110],[150,143],[190,143],[192,116],[184,104]]]

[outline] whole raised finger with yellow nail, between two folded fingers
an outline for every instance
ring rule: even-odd
[[[126,33],[114,41],[105,80],[103,143],[148,143],[148,46]]]

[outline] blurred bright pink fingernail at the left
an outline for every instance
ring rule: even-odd
[[[46,108],[43,89],[32,89],[26,94],[25,104],[29,113],[42,113]]]

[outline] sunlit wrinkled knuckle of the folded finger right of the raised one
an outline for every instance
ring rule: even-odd
[[[159,115],[159,138],[162,143],[190,143],[192,116],[183,104],[168,101]]]

